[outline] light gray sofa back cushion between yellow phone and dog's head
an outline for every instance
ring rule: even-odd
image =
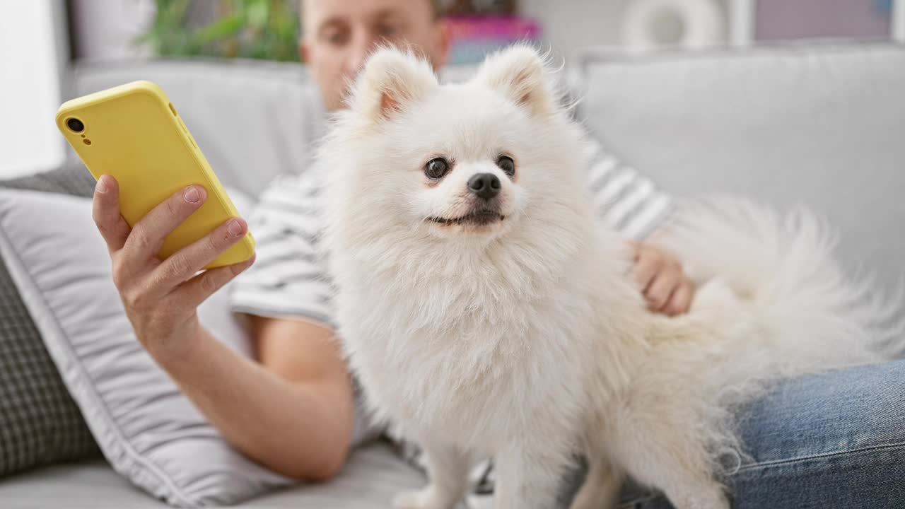
[[[163,88],[217,178],[251,197],[277,175],[305,168],[310,143],[323,129],[317,89],[298,63],[80,63],[73,72],[73,93],[80,96],[135,80]]]

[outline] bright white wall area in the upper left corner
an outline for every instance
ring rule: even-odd
[[[0,178],[52,168],[64,158],[64,140],[53,123],[65,47],[56,36],[60,5],[0,2]]]

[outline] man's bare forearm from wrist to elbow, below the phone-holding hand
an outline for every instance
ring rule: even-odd
[[[157,362],[233,447],[283,475],[324,480],[348,454],[348,377],[290,382],[198,328],[177,357]]]

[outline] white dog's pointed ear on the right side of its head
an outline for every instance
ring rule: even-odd
[[[519,44],[488,56],[476,80],[501,91],[532,114],[543,116],[554,110],[546,71],[538,51]]]

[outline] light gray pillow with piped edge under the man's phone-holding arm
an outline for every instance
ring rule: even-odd
[[[228,189],[247,213],[251,201]],[[135,338],[91,202],[0,189],[0,254],[72,398],[120,475],[170,504],[234,504],[291,480],[235,451]],[[214,337],[251,355],[229,286],[199,309]]]

